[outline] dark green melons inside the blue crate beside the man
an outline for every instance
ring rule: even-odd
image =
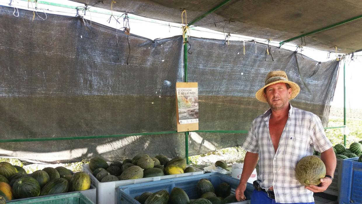
[[[225,204],[237,202],[235,195],[231,194],[231,187],[228,183],[220,183],[214,189],[212,183],[207,179],[201,179],[197,183],[199,199],[189,199],[184,190],[174,187],[169,194],[167,190],[160,190],[155,193],[144,192],[140,196],[135,197],[141,204]]]

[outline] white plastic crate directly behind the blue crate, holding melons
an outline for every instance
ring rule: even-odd
[[[108,165],[111,162],[107,162]],[[187,165],[189,166],[189,165]],[[174,174],[174,175],[164,175],[164,176],[155,176],[149,178],[142,178],[142,179],[130,179],[130,180],[119,180],[113,182],[99,182],[96,177],[92,175],[92,171],[89,168],[89,165],[82,165],[82,171],[86,172],[92,184],[97,188],[97,204],[113,204],[117,202],[117,187],[125,186],[128,184],[135,184],[135,183],[144,183],[149,181],[161,180],[161,179],[171,179],[171,178],[178,178],[182,176],[193,176],[203,174],[202,170],[197,168],[196,172],[184,173],[184,174]]]

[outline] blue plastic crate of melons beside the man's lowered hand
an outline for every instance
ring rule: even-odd
[[[136,196],[140,196],[144,192],[157,192],[160,190],[167,190],[171,193],[172,188],[178,187],[184,190],[190,199],[198,199],[197,195],[197,182],[200,179],[208,179],[214,186],[218,187],[220,183],[226,182],[231,187],[231,194],[235,194],[235,190],[239,185],[239,180],[232,178],[230,176],[220,174],[218,172],[212,172],[201,175],[194,176],[185,176],[180,178],[164,179],[159,181],[147,182],[147,183],[138,183],[127,186],[118,187],[117,194],[117,204],[140,204],[134,199]],[[250,200],[251,193],[253,192],[254,187],[251,183],[247,184],[247,190],[245,191],[245,196],[247,200]],[[237,202],[237,203],[249,203],[248,201]]]

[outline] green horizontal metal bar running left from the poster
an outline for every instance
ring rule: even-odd
[[[57,141],[57,140],[84,140],[84,139],[97,139],[97,138],[110,138],[110,137],[129,137],[129,136],[154,135],[154,134],[172,134],[172,133],[177,133],[177,131],[152,132],[152,133],[115,134],[115,135],[101,135],[101,136],[79,136],[79,137],[56,137],[56,138],[9,139],[9,140],[0,140],[0,143],[3,143],[3,142]]]

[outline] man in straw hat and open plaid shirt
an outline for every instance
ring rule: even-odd
[[[284,71],[271,71],[265,86],[255,97],[268,103],[270,109],[254,119],[242,148],[247,151],[236,199],[245,200],[244,191],[259,157],[258,179],[251,204],[314,204],[313,192],[323,192],[332,183],[336,156],[325,136],[320,118],[311,112],[294,108],[289,100],[298,95],[298,84],[288,80]],[[298,182],[295,167],[300,159],[321,152],[326,176],[319,186]]]

